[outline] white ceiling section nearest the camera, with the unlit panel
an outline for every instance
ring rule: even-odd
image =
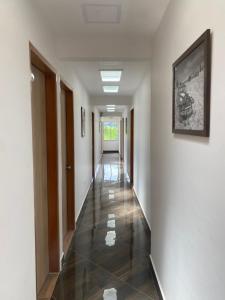
[[[35,0],[58,37],[128,35],[151,38],[168,2],[169,0]]]

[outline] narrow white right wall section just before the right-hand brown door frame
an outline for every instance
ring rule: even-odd
[[[133,97],[134,108],[134,190],[150,226],[150,122],[151,83],[146,74]]]

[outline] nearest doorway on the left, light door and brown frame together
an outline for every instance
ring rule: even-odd
[[[37,297],[48,298],[59,273],[56,74],[30,44]]]

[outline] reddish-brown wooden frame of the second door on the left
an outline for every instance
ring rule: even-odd
[[[60,88],[65,92],[66,101],[66,168],[70,175],[66,176],[67,229],[69,232],[75,230],[74,97],[73,90],[63,80],[60,81]]]

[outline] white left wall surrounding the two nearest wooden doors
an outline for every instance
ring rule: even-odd
[[[0,237],[3,245],[0,249],[0,299],[6,300],[36,298],[29,41],[76,92],[75,150],[76,161],[82,169],[79,178],[76,177],[77,211],[91,177],[90,141],[88,138],[80,141],[78,137],[79,106],[84,105],[88,111],[88,95],[76,77],[72,78],[71,72],[67,74],[67,67],[61,67],[55,56],[52,35],[32,5],[28,0],[0,3]],[[61,207],[61,187],[59,192]],[[61,225],[60,220],[62,233]]]

